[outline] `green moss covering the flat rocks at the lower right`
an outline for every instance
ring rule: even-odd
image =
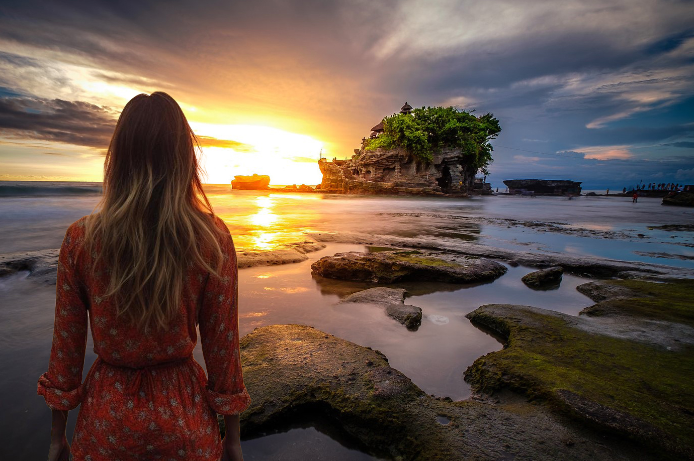
[[[653,298],[596,306],[619,304],[634,315],[691,324],[692,281],[644,283],[614,282],[641,291],[648,288]],[[662,440],[650,443],[694,453],[694,347],[668,351],[569,327],[561,315],[523,311],[522,316],[518,322],[484,311],[471,314],[474,322],[508,338],[505,349],[475,360],[466,370],[466,380],[475,388],[484,392],[511,388],[560,408],[564,403],[557,390],[569,390],[665,433],[653,437]]]

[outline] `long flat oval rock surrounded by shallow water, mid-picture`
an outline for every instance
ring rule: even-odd
[[[319,259],[311,269],[329,279],[376,283],[407,280],[472,283],[491,281],[507,270],[490,259],[405,250],[337,253]]]

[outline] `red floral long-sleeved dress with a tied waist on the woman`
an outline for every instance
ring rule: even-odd
[[[38,382],[38,394],[50,408],[71,410],[81,403],[73,459],[218,461],[215,413],[235,415],[251,403],[239,358],[231,236],[221,242],[220,276],[189,266],[176,322],[145,335],[101,297],[108,268],[94,266],[93,255],[82,251],[84,230],[82,218],[67,229],[60,248],[51,361]],[[87,317],[98,357],[81,383]],[[192,358],[198,324],[207,377]]]

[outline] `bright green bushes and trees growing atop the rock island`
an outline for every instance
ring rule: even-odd
[[[393,114],[384,120],[384,132],[367,139],[365,150],[396,147],[409,150],[422,162],[431,162],[434,150],[459,148],[465,157],[485,175],[492,162],[489,141],[501,132],[492,114],[474,116],[454,107],[421,107],[412,114]]]

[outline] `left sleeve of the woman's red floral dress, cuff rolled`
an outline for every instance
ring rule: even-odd
[[[76,276],[76,229],[71,226],[58,255],[56,321],[48,371],[41,375],[37,394],[53,410],[72,410],[82,401],[82,369],[87,347],[87,304]]]

